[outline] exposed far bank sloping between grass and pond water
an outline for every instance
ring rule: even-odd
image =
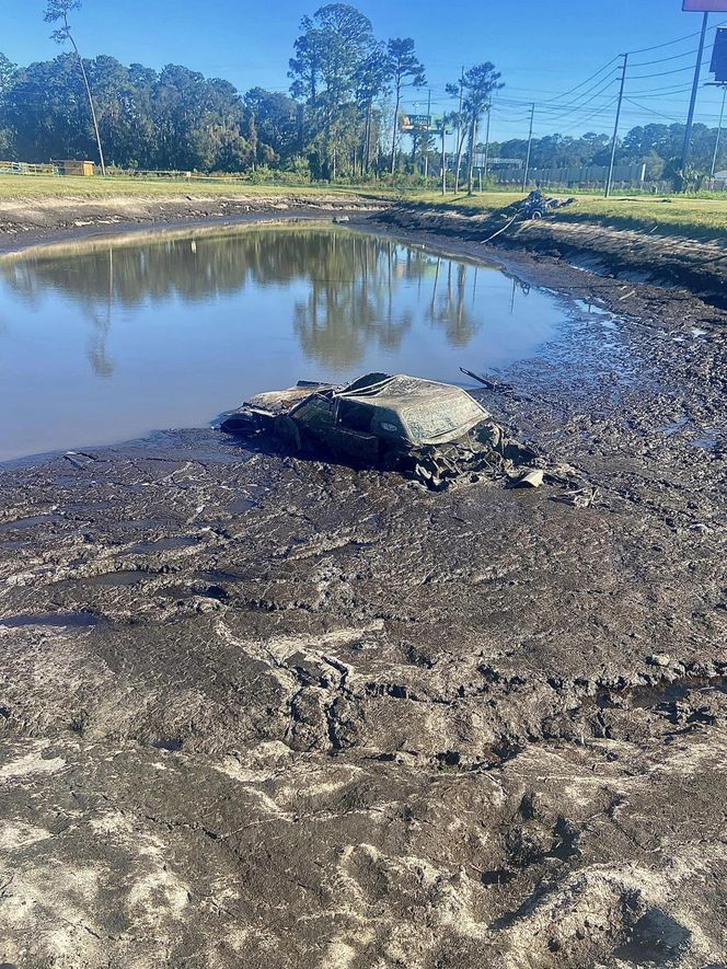
[[[0,256],[47,242],[99,239],[143,229],[180,228],[188,224],[224,224],[267,218],[354,218],[372,217],[382,226],[409,232],[427,232],[438,238],[468,241],[481,247],[503,228],[507,219],[499,212],[468,208],[452,199],[447,205],[406,203],[391,195],[351,192],[276,189],[265,194],[222,192],[205,196],[199,186],[194,194],[170,192],[82,197],[43,194],[38,197],[0,199]],[[219,186],[216,186],[219,189]],[[506,205],[510,196],[504,196]],[[669,200],[665,199],[666,205]],[[708,233],[694,227],[667,232],[665,227],[620,226],[587,212],[554,216],[539,222],[516,222],[497,234],[486,251],[495,254],[531,253],[553,258],[563,266],[577,265],[601,275],[630,281],[653,282],[683,288],[706,302],[727,308],[725,276],[727,245],[724,233]]]

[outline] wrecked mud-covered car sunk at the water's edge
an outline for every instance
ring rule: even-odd
[[[465,474],[522,471],[536,458],[462,388],[402,373],[367,373],[346,385],[300,381],[257,394],[221,429],[273,434],[295,450],[312,445],[435,489]]]

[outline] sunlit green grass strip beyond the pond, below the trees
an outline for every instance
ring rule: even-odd
[[[471,198],[466,195],[438,193],[397,193],[391,189],[346,188],[332,186],[251,185],[231,182],[183,182],[139,178],[58,178],[51,176],[0,176],[0,204],[43,203],[54,199],[103,201],[123,198],[192,198],[210,197],[269,197],[295,193],[302,196],[358,196],[360,198],[393,198],[419,205],[453,208],[462,212],[494,212],[521,199],[520,192],[485,192]],[[567,193],[554,193],[566,195]],[[686,234],[696,238],[720,238],[727,232],[727,197],[684,197],[615,195],[605,199],[598,195],[579,194],[575,204],[558,212],[558,220],[611,226],[619,229],[656,231],[659,234]]]

